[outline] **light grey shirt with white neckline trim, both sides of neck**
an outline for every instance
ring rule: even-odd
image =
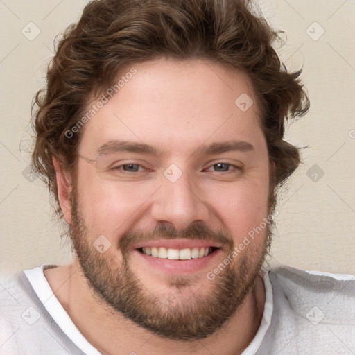
[[[53,294],[48,267],[1,280],[0,354],[100,355]],[[263,282],[263,318],[243,355],[355,354],[354,276],[277,266]]]

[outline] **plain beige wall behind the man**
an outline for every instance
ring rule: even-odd
[[[70,259],[48,191],[39,179],[26,179],[24,171],[32,144],[31,101],[44,84],[53,40],[78,19],[85,3],[0,0],[2,272]],[[309,114],[287,132],[288,141],[309,148],[282,193],[272,259],[307,270],[355,274],[355,2],[259,4],[272,26],[286,31],[279,53],[291,69],[304,65],[302,78],[311,98]]]

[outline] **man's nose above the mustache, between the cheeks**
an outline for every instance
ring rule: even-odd
[[[207,222],[210,210],[204,202],[206,193],[189,180],[187,173],[173,182],[164,176],[162,186],[153,196],[151,216],[158,223],[172,224],[177,230],[196,221]]]

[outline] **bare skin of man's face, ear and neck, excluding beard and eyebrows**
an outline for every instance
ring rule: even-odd
[[[119,180],[104,178],[94,164],[78,159],[76,195],[85,221],[85,241],[91,245],[99,235],[105,235],[112,246],[103,255],[112,258],[112,268],[123,263],[116,248],[122,236],[137,229],[153,230],[159,223],[181,231],[202,222],[211,230],[225,232],[232,245],[239,245],[269,212],[270,164],[250,79],[236,69],[198,59],[159,58],[134,67],[135,76],[85,124],[78,152],[95,159],[99,146],[124,139],[143,141],[162,150],[162,155],[125,154],[125,161],[150,167],[138,180],[128,175],[120,175]],[[243,93],[254,101],[245,112],[234,104]],[[253,148],[193,155],[202,144],[232,140],[246,141]],[[239,164],[242,169],[216,171],[213,164],[218,162]],[[73,179],[55,159],[53,163],[64,218],[73,225],[77,223],[69,199]],[[182,172],[176,182],[164,176],[171,164]],[[259,268],[266,238],[267,232],[261,233],[230,268],[239,270],[243,257]],[[207,272],[227,255],[228,250],[222,248],[207,268],[183,275],[182,280],[193,281],[183,288],[169,284],[173,277],[164,272],[152,272],[133,252],[128,265],[147,293],[162,299],[168,295],[186,304],[211,293],[216,279],[207,279]],[[241,354],[257,332],[265,303],[263,281],[254,277],[254,287],[222,329],[206,338],[178,341],[138,327],[110,309],[89,287],[78,257],[71,265],[47,269],[44,274],[78,329],[102,354],[206,354],[206,349],[212,354]]]

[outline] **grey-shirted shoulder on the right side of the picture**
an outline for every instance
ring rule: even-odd
[[[267,270],[272,317],[257,354],[344,354],[354,347],[355,277],[291,266]]]

